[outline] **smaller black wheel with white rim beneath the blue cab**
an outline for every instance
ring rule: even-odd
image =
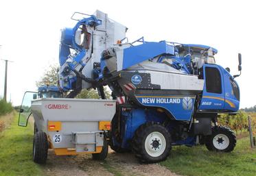
[[[205,145],[209,151],[231,152],[237,140],[228,127],[213,127],[211,136],[206,136]]]

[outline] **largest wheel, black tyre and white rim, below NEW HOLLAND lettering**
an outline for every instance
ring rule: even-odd
[[[170,133],[158,123],[143,124],[135,131],[132,150],[141,162],[163,161],[169,155],[171,148]]]

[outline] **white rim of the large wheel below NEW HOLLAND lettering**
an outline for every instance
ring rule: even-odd
[[[152,132],[145,141],[145,149],[148,155],[152,157],[159,157],[163,154],[166,148],[165,136],[159,132]]]

